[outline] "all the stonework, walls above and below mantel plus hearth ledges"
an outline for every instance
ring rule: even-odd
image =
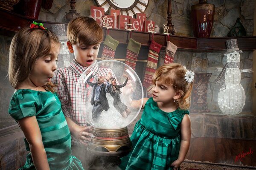
[[[148,20],[153,20],[162,32],[163,24],[167,23],[167,0],[149,0],[145,10]],[[240,17],[241,23],[247,31],[247,36],[253,34],[253,7],[255,1],[250,0],[208,0],[215,4],[215,22],[211,37],[225,37]],[[172,23],[175,25],[176,35],[193,37],[191,28],[190,7],[198,3],[198,0],[172,0]],[[76,10],[81,15],[89,15],[90,6],[96,6],[94,0],[76,0]],[[47,20],[64,23],[64,16],[70,10],[69,0],[54,0],[50,10],[41,8],[38,20]],[[8,107],[14,89],[6,78],[8,69],[8,51],[11,37],[0,36],[0,117],[9,118]],[[159,65],[163,64],[165,51],[160,52]],[[241,55],[241,69],[252,68],[252,51],[244,51]],[[238,116],[225,116],[220,113],[217,103],[218,89],[213,83],[218,76],[218,68],[222,68],[226,57],[222,52],[195,52],[178,49],[175,54],[175,62],[181,63],[189,70],[197,73],[212,73],[207,87],[207,109],[211,113],[192,113],[192,137],[219,137],[229,139],[255,140],[255,116],[251,113],[252,106],[252,74],[242,73],[241,84],[246,93],[246,105],[243,113]],[[129,125],[131,134],[138,116]],[[203,127],[203,128],[202,128]],[[14,133],[0,136],[2,150],[0,151],[0,164],[3,169],[17,169],[25,161],[27,152],[24,149],[23,134],[18,130]],[[12,136],[12,138],[9,138]],[[16,138],[16,137],[17,138]],[[15,137],[15,139],[14,139]],[[12,140],[10,140],[12,139]],[[11,142],[14,141],[14,142]],[[15,150],[13,149],[15,148]],[[11,152],[12,151],[12,152]],[[9,163],[8,163],[9,162]],[[7,165],[8,163],[8,165]],[[10,167],[10,168],[9,168]],[[0,168],[0,169],[1,169]]]

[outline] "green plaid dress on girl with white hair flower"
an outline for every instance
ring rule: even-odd
[[[122,170],[172,170],[169,165],[178,158],[180,124],[189,111],[177,109],[167,113],[149,98],[141,119],[131,136],[133,150],[122,158]]]

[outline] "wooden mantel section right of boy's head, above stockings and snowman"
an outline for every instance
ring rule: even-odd
[[[105,30],[105,28],[103,28]],[[106,33],[106,31],[104,31]],[[127,30],[110,29],[109,34],[120,43],[128,43],[130,33]],[[238,47],[241,50],[256,49],[256,37],[215,37],[215,38],[194,38],[170,35],[170,41],[177,45],[178,49],[195,51],[224,51],[226,50],[226,40],[236,38]],[[142,45],[150,45],[152,34],[148,32],[132,31],[132,39]],[[166,46],[166,34],[154,34],[154,41]]]

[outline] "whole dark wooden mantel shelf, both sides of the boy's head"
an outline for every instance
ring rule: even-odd
[[[32,20],[15,14],[9,11],[0,9],[0,33],[5,34],[6,31],[13,33],[17,32],[23,27],[29,26]],[[38,21],[45,24],[45,27],[50,28],[55,22]],[[5,31],[3,31],[5,30]],[[103,28],[106,34],[106,28]],[[110,29],[109,34],[121,44],[127,44],[130,38],[130,31],[121,29]],[[152,34],[142,31],[132,31],[132,38],[140,42],[144,46],[149,46]],[[238,40],[238,47],[241,50],[254,50],[256,49],[256,37],[215,37],[215,38],[194,38],[170,35],[170,41],[177,45],[178,49],[192,50],[192,51],[225,51],[228,39],[236,38]],[[154,41],[166,46],[166,34],[154,34]]]

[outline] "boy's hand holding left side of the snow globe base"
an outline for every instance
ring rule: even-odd
[[[81,142],[81,144],[84,144],[85,146],[88,145],[88,142],[90,142],[91,139],[91,132],[93,130],[92,126],[77,126],[76,132],[73,134],[75,138]]]

